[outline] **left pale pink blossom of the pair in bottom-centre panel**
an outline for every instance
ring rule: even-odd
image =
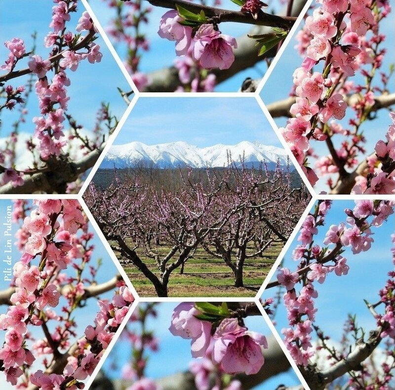
[[[198,314],[200,312],[196,309],[194,303],[180,303],[173,310],[169,328],[174,336],[192,339],[193,357],[204,356],[211,339],[211,323],[197,319],[196,315]]]

